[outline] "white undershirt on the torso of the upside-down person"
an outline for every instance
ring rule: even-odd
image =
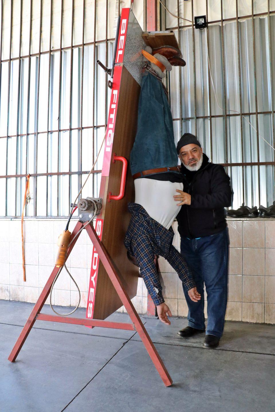
[[[176,189],[183,190],[183,183],[166,180],[139,178],[134,180],[135,203],[140,204],[148,215],[169,229],[181,206],[174,201]]]

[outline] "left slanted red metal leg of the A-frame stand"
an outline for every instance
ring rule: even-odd
[[[71,234],[71,239],[73,239],[73,237],[75,236],[75,234],[81,229],[81,227],[83,226],[83,223],[78,222],[73,230],[73,233]],[[73,243],[71,244],[71,246],[68,248],[68,252],[67,252],[67,257],[70,255],[71,250],[73,249],[73,246],[75,245],[75,242],[77,241],[78,236],[75,238],[75,240],[73,241]],[[15,359],[17,358],[18,353],[21,350],[21,347],[24,345],[25,340],[28,337],[28,334],[31,332],[31,328],[33,327],[33,324],[35,323],[35,316],[40,312],[40,310],[42,309],[44,303],[46,302],[47,297],[49,296],[51,287],[52,287],[52,283],[54,281],[54,278],[57,274],[57,272],[59,271],[59,267],[54,267],[49,279],[47,280],[46,285],[44,286],[42,292],[40,293],[40,296],[38,298],[38,301],[35,303],[33,310],[31,311],[30,316],[28,317],[28,320],[26,321],[26,325],[24,326],[24,328],[22,329],[22,332],[19,335],[19,338],[17,339],[9,357],[8,360],[11,362],[14,362]]]

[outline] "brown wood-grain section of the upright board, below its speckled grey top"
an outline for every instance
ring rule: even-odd
[[[118,69],[118,68],[115,68]],[[122,66],[121,82],[119,89],[118,107],[116,113],[115,129],[113,136],[112,157],[114,154],[126,157],[129,162],[136,136],[137,111],[139,104],[140,86],[128,70]],[[102,214],[103,230],[101,240],[112,258],[120,278],[124,281],[129,297],[136,296],[139,269],[126,257],[126,248],[123,244],[130,214],[127,204],[134,201],[134,180],[128,164],[125,197],[122,200],[108,202],[108,194],[118,194],[120,191],[121,162],[111,162],[108,177],[102,176],[100,197],[103,198]],[[105,319],[122,306],[109,276],[103,265],[99,262],[94,299],[94,319]]]

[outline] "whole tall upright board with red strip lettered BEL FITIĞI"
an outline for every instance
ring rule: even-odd
[[[102,209],[95,222],[96,233],[108,251],[131,299],[136,296],[139,269],[127,259],[123,241],[130,220],[127,205],[134,201],[134,181],[129,168],[129,159],[136,136],[141,84],[141,49],[144,44],[142,33],[134,14],[129,8],[123,8],[103,152],[99,191]],[[109,202],[110,193],[119,194],[122,176],[122,162],[117,160],[113,163],[114,155],[127,159],[128,171],[124,197]],[[103,320],[121,306],[120,298],[93,246],[86,317]]]

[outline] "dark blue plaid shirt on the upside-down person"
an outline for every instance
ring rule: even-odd
[[[174,237],[172,226],[166,229],[150,218],[146,210],[137,203],[129,203],[128,209],[132,217],[124,244],[129,253],[135,256],[141,276],[154,304],[164,303],[162,286],[154,262],[155,255],[163,256],[170,263],[187,290],[194,288],[195,282],[186,261],[172,246]]]

